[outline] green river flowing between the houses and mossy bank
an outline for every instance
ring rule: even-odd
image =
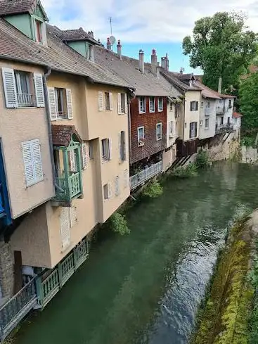
[[[101,236],[15,344],[187,343],[228,222],[242,205],[257,208],[257,175],[219,163],[167,179],[160,198],[129,210],[131,234]]]

